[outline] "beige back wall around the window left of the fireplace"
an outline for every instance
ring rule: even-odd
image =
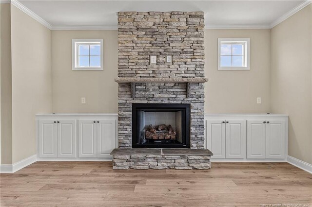
[[[72,70],[72,39],[83,38],[103,39],[104,70]],[[117,30],[53,31],[52,62],[53,112],[117,113]]]

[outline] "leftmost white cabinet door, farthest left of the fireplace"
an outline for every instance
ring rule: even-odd
[[[58,124],[51,120],[39,121],[39,157],[58,157]]]

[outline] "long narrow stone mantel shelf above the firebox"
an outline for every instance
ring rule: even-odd
[[[115,78],[117,83],[205,83],[208,78]]]

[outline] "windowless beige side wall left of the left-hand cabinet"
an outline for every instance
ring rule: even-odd
[[[11,5],[13,163],[36,154],[35,115],[52,111],[51,31]]]

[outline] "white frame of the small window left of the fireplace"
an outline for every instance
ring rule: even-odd
[[[78,67],[78,45],[100,44],[100,67]],[[72,70],[103,70],[103,39],[72,39]],[[89,54],[90,55],[90,54]]]

